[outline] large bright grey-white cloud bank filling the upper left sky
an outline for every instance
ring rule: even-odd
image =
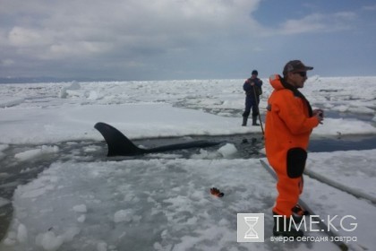
[[[13,0],[3,2],[1,14],[15,13],[7,45],[52,59],[189,48],[252,26],[249,13],[259,1],[37,0],[18,6]]]

